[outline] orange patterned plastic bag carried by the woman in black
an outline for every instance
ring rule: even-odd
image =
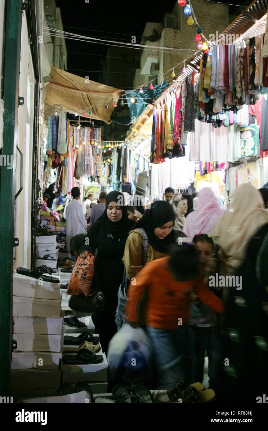
[[[78,256],[71,279],[68,284],[67,294],[84,294],[87,296],[91,289],[94,275],[94,256],[88,254],[85,259]]]

